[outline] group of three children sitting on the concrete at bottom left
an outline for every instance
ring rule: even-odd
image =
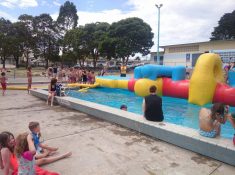
[[[39,166],[69,157],[72,153],[53,156],[58,148],[40,142],[39,123],[30,122],[28,127],[30,132],[19,134],[16,139],[10,132],[0,133],[0,169],[4,175],[58,175]]]

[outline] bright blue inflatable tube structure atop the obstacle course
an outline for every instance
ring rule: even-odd
[[[173,81],[185,79],[186,68],[184,66],[160,66],[160,65],[144,65],[136,67],[134,70],[134,78],[149,78],[156,80],[158,77],[170,77]]]

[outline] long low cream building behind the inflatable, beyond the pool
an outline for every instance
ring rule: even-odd
[[[217,53],[223,62],[235,62],[235,40],[216,40],[198,43],[160,46],[160,64],[184,65],[194,67],[198,57],[203,53]],[[156,52],[151,53],[151,62],[157,61]],[[159,64],[159,63],[158,63]]]

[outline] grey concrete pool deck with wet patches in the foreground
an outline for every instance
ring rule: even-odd
[[[70,158],[44,166],[62,175],[232,175],[235,167],[61,106],[49,107],[26,91],[0,96],[0,131],[27,131],[41,123],[47,144]],[[0,171],[1,174],[1,171]],[[2,175],[2,174],[1,174]]]

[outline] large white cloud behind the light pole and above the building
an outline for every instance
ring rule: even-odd
[[[159,0],[161,8],[160,45],[179,44],[209,40],[213,28],[224,13],[235,9],[234,0]],[[123,12],[118,9],[100,12],[78,11],[79,25],[91,22],[112,23],[127,17],[139,17],[153,29],[157,43],[156,0],[128,0],[125,5],[133,9]],[[156,44],[152,50],[156,50]]]

